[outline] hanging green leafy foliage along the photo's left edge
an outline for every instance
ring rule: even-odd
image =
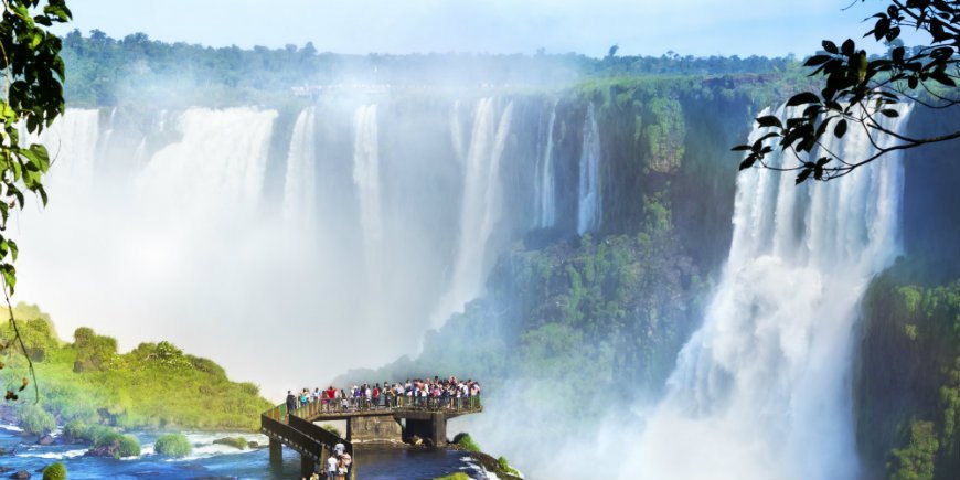
[[[29,137],[21,141],[20,129],[39,135],[64,111],[62,44],[49,29],[54,23],[70,21],[71,11],[64,0],[0,1],[3,9],[0,19],[0,71],[3,73],[3,97],[0,98],[0,122],[3,125],[0,130],[0,274],[14,330],[10,343],[19,343],[33,375],[33,363],[10,306],[9,296],[13,295],[17,285],[13,263],[19,249],[7,233],[7,221],[11,210],[23,209],[26,204],[24,191],[39,195],[46,204],[43,175],[50,169],[50,156],[46,148],[33,143]],[[0,344],[0,351],[8,346]],[[23,378],[20,391],[26,384],[26,378]],[[15,398],[17,394],[8,390],[7,399]]]

